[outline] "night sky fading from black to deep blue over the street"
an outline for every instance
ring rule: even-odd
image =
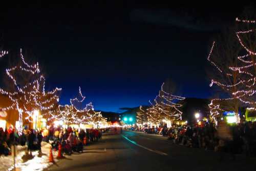
[[[243,11],[241,5],[218,4],[87,2],[23,7],[1,7],[2,47],[23,48],[29,54],[26,59],[37,59],[47,89],[62,88],[61,104],[68,104],[80,86],[87,102],[104,111],[147,104],[166,79],[176,82],[179,95],[210,98],[210,45]],[[3,74],[5,67],[0,67]]]

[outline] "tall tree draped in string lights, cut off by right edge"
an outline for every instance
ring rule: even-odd
[[[243,29],[237,31],[236,35],[239,43],[244,49],[245,54],[238,56],[238,59],[242,62],[242,65],[238,67],[230,67],[230,69],[240,72],[241,80],[244,84],[240,90],[233,92],[233,94],[248,107],[255,108],[256,22],[254,20],[240,20],[239,18],[236,18],[236,21]]]

